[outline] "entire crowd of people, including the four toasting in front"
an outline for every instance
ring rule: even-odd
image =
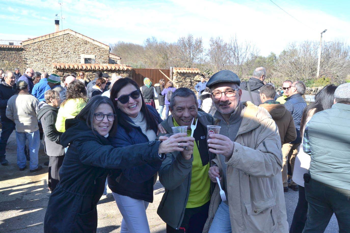
[[[302,81],[276,93],[264,67],[245,82],[229,70],[202,77],[197,93],[99,71],[92,81],[82,71],[0,75],[1,165],[15,130],[19,170],[27,160],[29,172],[41,170],[42,130],[51,191],[44,232],[96,232],[107,184],[120,232],[150,232],[158,176],[167,233],[323,232],[333,213],[339,232],[350,229],[350,83],[327,85],[307,104]],[[299,192],[290,228],[289,190]]]

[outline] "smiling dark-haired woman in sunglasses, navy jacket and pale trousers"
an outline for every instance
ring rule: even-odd
[[[111,99],[117,110],[118,131],[109,140],[115,147],[147,143],[156,138],[157,126],[162,121],[158,112],[145,104],[140,89],[132,79],[120,79],[114,83]],[[187,140],[184,140],[187,141]],[[139,151],[140,148],[135,147]],[[120,213],[123,215],[121,233],[149,232],[146,209],[153,202],[153,185],[161,161],[123,169],[107,177],[108,186]]]

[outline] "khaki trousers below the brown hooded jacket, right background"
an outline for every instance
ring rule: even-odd
[[[282,182],[283,187],[288,187],[287,183],[287,174],[288,174],[288,166],[287,161],[289,159],[290,167],[292,167],[292,176],[293,176],[293,170],[294,170],[294,161],[295,157],[299,152],[299,146],[300,143],[285,143],[282,146],[282,155],[283,155],[283,161],[282,161]],[[290,181],[291,185],[296,185],[296,183],[292,180]]]

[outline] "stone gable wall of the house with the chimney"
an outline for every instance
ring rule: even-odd
[[[109,63],[109,50],[72,34],[23,45],[23,68],[52,73],[52,63],[80,63],[81,54],[95,55],[96,64]]]

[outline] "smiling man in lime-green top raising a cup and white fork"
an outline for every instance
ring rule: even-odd
[[[191,136],[192,120],[198,121],[193,134],[194,147],[168,154],[159,170],[159,181],[165,187],[165,194],[157,213],[166,222],[167,233],[202,232],[208,217],[211,154],[206,136],[207,125],[213,124],[213,118],[203,111],[198,112],[197,106],[195,93],[188,88],[179,88],[170,101],[172,115],[161,123],[167,133],[172,133],[174,126],[187,126],[188,136]]]

